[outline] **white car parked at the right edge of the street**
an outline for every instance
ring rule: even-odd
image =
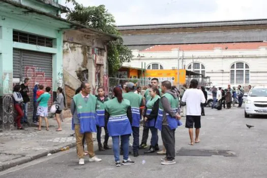
[[[267,115],[267,87],[254,86],[248,94],[244,94],[245,117],[250,115]]]

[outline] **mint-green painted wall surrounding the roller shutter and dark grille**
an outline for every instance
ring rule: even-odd
[[[12,9],[13,13],[7,7],[5,9],[4,12],[0,7],[0,96],[12,93],[13,48],[53,54],[52,90],[55,92],[58,84],[62,82],[63,74],[63,32],[61,29],[70,28],[69,24],[51,20],[50,17],[44,15],[31,13],[16,15],[21,14],[23,9]],[[53,48],[13,42],[13,30],[53,38]]]

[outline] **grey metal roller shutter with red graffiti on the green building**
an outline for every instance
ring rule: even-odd
[[[36,82],[46,86],[50,86],[52,90],[52,54],[21,50],[22,56],[22,76],[23,80],[29,78],[29,98],[28,105],[28,120],[32,120],[33,113],[33,89]],[[48,106],[52,105],[52,91],[50,92],[51,99]]]

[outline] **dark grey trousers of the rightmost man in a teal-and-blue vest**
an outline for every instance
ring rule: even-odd
[[[167,159],[175,158],[175,129],[171,130],[169,126],[162,126],[161,138],[166,149]]]

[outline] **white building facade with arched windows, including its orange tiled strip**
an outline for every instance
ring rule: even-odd
[[[179,50],[180,49],[180,50]],[[211,77],[212,85],[267,84],[267,43],[157,45],[133,50],[131,67],[186,69]]]

